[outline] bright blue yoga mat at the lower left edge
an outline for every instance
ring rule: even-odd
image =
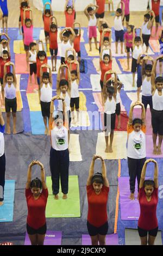
[[[0,207],[0,222],[12,222],[14,213],[15,180],[5,180],[4,205]]]

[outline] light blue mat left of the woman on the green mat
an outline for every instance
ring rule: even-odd
[[[41,111],[30,111],[30,123],[33,135],[45,134],[45,126],[43,124]]]

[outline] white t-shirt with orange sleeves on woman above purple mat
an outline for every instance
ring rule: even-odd
[[[135,132],[132,125],[128,125],[127,156],[132,159],[146,157],[146,126],[142,125],[139,132]]]

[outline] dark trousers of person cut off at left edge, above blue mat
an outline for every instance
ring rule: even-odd
[[[4,200],[5,154],[0,157],[0,202]]]

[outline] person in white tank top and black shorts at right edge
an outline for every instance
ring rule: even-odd
[[[152,110],[152,128],[153,128],[153,154],[161,155],[161,145],[163,139],[163,77],[156,75],[156,65],[158,60],[162,59],[163,56],[156,58],[153,69],[152,69],[152,101],[153,101],[153,110]],[[159,137],[159,144],[156,145],[156,139]]]

